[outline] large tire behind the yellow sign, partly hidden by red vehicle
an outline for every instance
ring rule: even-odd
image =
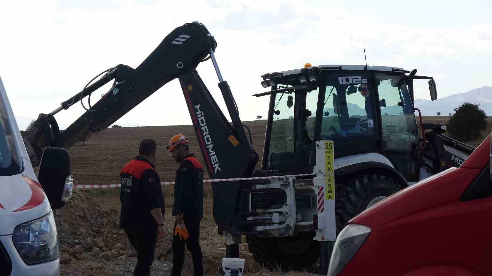
[[[350,179],[341,194],[336,195],[337,233],[340,233],[347,221],[400,190],[401,185],[395,180],[377,173],[363,174]]]

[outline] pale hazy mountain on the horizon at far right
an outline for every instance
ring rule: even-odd
[[[479,104],[479,108],[484,110],[487,116],[492,116],[492,87],[490,86],[453,94],[441,99],[439,99],[439,92],[437,93],[438,98],[435,101],[415,100],[414,106],[422,112],[422,115],[435,115],[435,112],[439,111],[441,116],[448,116],[449,113],[453,114],[455,112],[454,109],[464,102],[470,102]],[[418,112],[415,112],[415,114],[418,115]]]

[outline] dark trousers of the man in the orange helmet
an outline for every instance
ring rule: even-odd
[[[176,222],[174,222],[173,228],[173,271],[171,276],[181,276],[181,271],[184,264],[184,245],[188,248],[193,259],[193,275],[203,276],[203,264],[202,264],[202,248],[200,247],[200,221],[201,218],[185,217],[184,226],[188,231],[188,239],[180,240],[180,234],[174,236],[174,229],[176,229]]]

